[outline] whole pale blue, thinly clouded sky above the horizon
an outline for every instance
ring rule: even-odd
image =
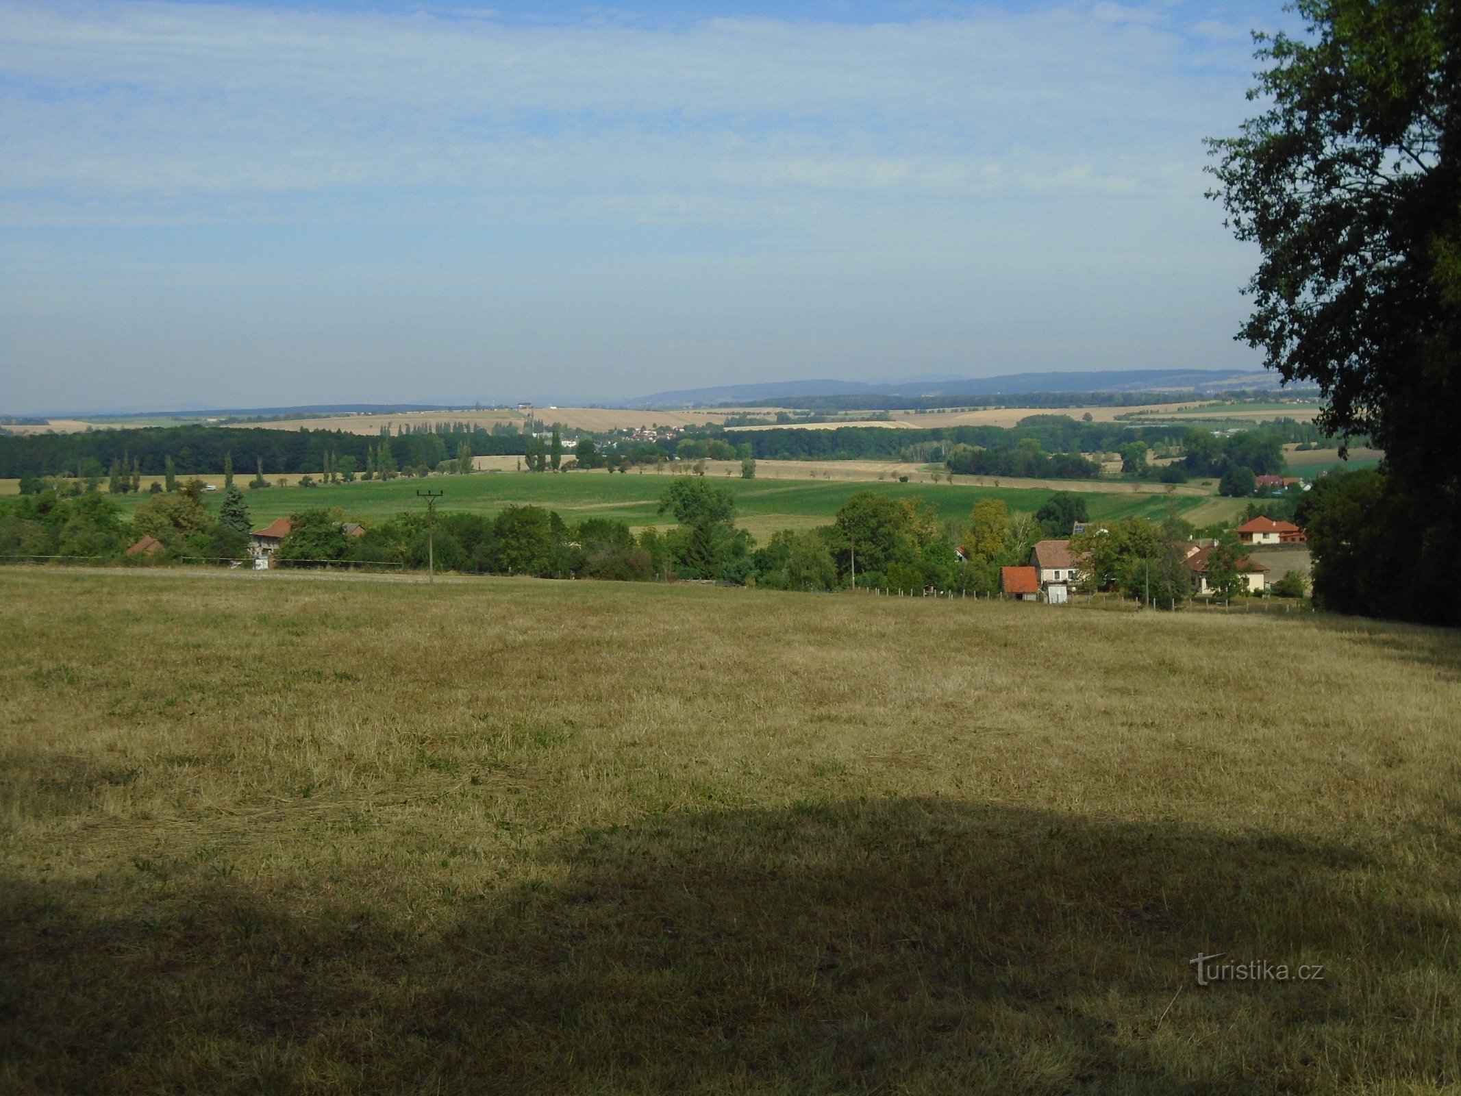
[[[1277,3],[0,0],[0,414],[1258,368]]]

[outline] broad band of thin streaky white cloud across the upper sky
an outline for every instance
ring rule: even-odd
[[[1223,121],[1221,77],[1132,12],[646,28],[0,4],[0,193],[15,224],[67,194],[92,216],[196,219],[342,189],[552,212],[665,190],[1161,189],[1151,165],[1197,162]]]

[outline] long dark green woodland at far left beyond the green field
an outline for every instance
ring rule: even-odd
[[[463,444],[472,456],[522,456],[526,438],[520,434],[462,431],[450,434],[392,434],[392,453],[400,468],[437,468],[456,459]],[[35,434],[0,437],[0,478],[76,475],[99,476],[112,462],[142,475],[164,475],[171,457],[178,475],[222,473],[232,453],[238,468],[256,468],[263,460],[267,473],[324,472],[326,454],[352,457],[365,466],[375,434],[351,434],[340,430],[254,430],[229,427],[146,427],[139,430],[102,430],[91,434]]]

